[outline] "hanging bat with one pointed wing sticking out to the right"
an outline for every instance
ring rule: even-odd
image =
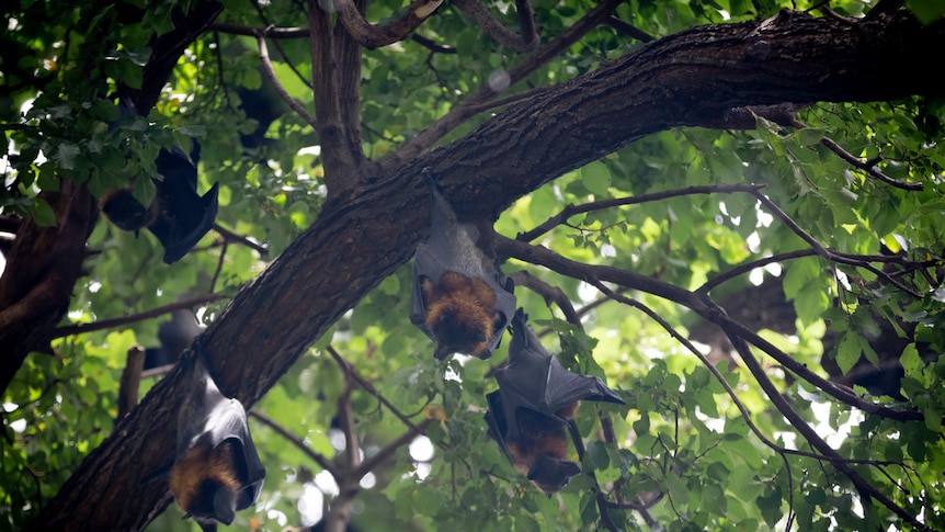
[[[512,319],[509,363],[496,371],[486,422],[512,465],[550,497],[581,472],[567,460],[565,430],[579,401],[625,401],[599,377],[566,370],[525,321],[522,310]]]

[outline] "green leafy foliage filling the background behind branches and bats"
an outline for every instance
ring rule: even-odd
[[[136,236],[101,223],[89,237],[94,251],[86,262],[89,275],[76,286],[67,321],[134,316],[216,293],[225,298],[195,305],[209,324],[223,313],[226,297],[255,278],[319,215],[326,196],[320,151],[314,149],[319,139],[284,109],[265,131],[255,132],[259,120],[250,118],[241,106],[263,98],[252,92],[265,82],[255,43],[226,33],[207,34],[187,49],[147,118],[122,117],[111,94],[118,82],[141,84],[151,36],[170,30],[170,10],[186,2],[148,5],[140,21],[124,21],[122,10],[138,3],[102,8],[95,2],[67,7],[22,1],[19,9],[10,8],[16,16],[9,21],[2,44],[15,54],[4,53],[0,78],[8,183],[0,192],[0,210],[52,226],[55,213],[39,193],[57,190],[65,179],[87,183],[101,196],[139,178],[135,196],[148,203],[153,184],[143,178],[156,176],[158,150],[178,145],[190,151],[197,143],[198,190],[220,184],[217,222],[246,240],[225,240],[210,233],[183,260],[164,265],[152,235]],[[592,7],[573,1],[532,3],[543,42],[572,26]],[[630,0],[616,14],[650,35],[664,36],[815,3]],[[926,22],[945,11],[941,2],[908,3]],[[298,2],[274,0],[260,3],[260,11],[249,2],[225,4],[220,20],[232,24],[308,23]],[[373,2],[367,18],[390,20],[403,5]],[[489,7],[515,27],[512,4]],[[831,8],[849,16],[866,9],[858,1],[831,2]],[[363,54],[363,148],[372,159],[395,151],[455,109],[490,75],[521,60],[448,3],[418,34],[448,44],[456,54],[431,53],[410,39]],[[270,43],[275,48],[274,39]],[[599,27],[510,94],[574,78],[639,46],[612,27]],[[283,87],[311,112],[309,54],[305,39],[280,39],[277,54],[272,55]],[[14,56],[19,59],[8,59]],[[104,57],[107,60],[95,60]],[[462,137],[487,115],[474,117],[442,142]],[[788,318],[776,324],[759,318],[753,330],[821,375],[821,358],[823,367],[832,363],[846,373],[883,365],[886,359],[880,359],[874,341],[879,336],[891,335],[901,343],[897,358],[904,376],[899,392],[923,412],[919,421],[865,414],[759,351],[755,354],[798,415],[819,433],[831,434],[829,442],[842,459],[859,461],[856,471],[879,491],[941,529],[945,360],[933,354],[945,349],[943,120],[941,101],[916,98],[816,104],[800,113],[799,121],[809,126],[804,128],[785,129],[760,117],[758,128],[749,132],[661,132],[521,199],[496,227],[514,236],[568,204],[756,183],[765,185],[761,193],[796,228],[747,192],[699,193],[578,214],[542,235],[540,244],[568,259],[620,268],[685,290],[766,257],[810,249],[806,238],[842,257],[901,253],[908,262],[898,263],[899,270],[889,265],[898,284],[884,276],[881,262],[864,268],[820,254],[781,260],[778,268],[760,264],[752,281],[747,274],[736,276],[708,295],[727,304],[733,301],[732,310],[742,307],[748,291],[761,281],[779,285],[790,302]],[[244,146],[240,135],[253,133],[263,142]],[[890,179],[922,183],[924,189],[907,191],[853,168],[823,138],[856,159],[875,161]],[[266,253],[246,242],[263,245]],[[713,365],[704,365],[657,320],[600,301],[601,294],[579,279],[517,261],[503,268],[527,270],[559,287],[583,310],[580,327],[568,324],[544,294],[516,290],[536,330],[557,333],[557,344],[553,335],[543,335],[543,341],[560,353],[562,364],[601,376],[627,401],[626,407],[587,403],[580,408],[576,426],[587,443],[580,460],[587,474],[549,499],[509,464],[482,420],[485,395],[496,387],[490,372],[504,351],[490,361],[434,362],[431,343],[407,319],[411,279],[405,267],[340,319],[257,405],[298,441],[253,418],[252,431],[269,476],[259,505],[238,514],[235,527],[246,528],[250,520],[254,530],[312,524],[318,516],[312,507],[321,503],[311,494],[323,494],[326,501],[338,495],[327,479],[331,475],[311,453],[326,461],[344,456],[340,443],[344,409],[339,405],[352,412],[362,460],[384,457],[369,478],[361,479],[353,522],[364,530],[587,530],[602,522],[597,489],[612,503],[607,517],[620,530],[646,528],[641,513],[629,509],[634,505],[646,506],[648,516],[665,530],[888,527],[892,518],[888,509],[864,506],[833,466],[809,457],[820,451],[772,408],[756,377],[728,348],[715,350]],[[706,324],[691,309],[652,294],[623,295],[652,309],[684,337],[720,341],[705,333]],[[765,308],[784,309],[781,301],[764,303]],[[66,336],[53,342],[53,354],[31,354],[5,393],[0,416],[4,434],[0,529],[23,528],[111,432],[126,352],[135,342],[156,347],[163,319]],[[353,381],[332,351],[371,388],[349,387]],[[153,377],[146,378],[144,387],[152,382]],[[854,389],[877,404],[893,400],[872,397],[859,386]],[[411,423],[429,423],[431,456],[421,457],[406,445],[388,449],[398,438],[413,440],[388,404]],[[601,429],[602,418],[611,423],[607,430]],[[569,452],[579,460],[573,446]],[[152,529],[191,527],[167,516],[161,519]]]

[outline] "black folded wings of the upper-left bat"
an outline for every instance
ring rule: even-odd
[[[164,247],[164,262],[172,264],[213,227],[217,216],[219,183],[197,194],[197,169],[177,146],[162,149],[156,161],[162,181],[155,181],[159,212],[148,230]]]

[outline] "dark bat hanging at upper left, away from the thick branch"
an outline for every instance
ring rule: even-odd
[[[134,104],[123,99],[122,114],[137,113]],[[157,193],[145,206],[132,194],[132,188],[106,191],[99,210],[116,227],[134,231],[150,230],[164,248],[163,261],[173,264],[194,247],[213,227],[217,216],[219,183],[214,183],[203,196],[197,194],[198,145],[194,144],[194,159],[180,148],[162,149],[155,160],[162,179],[153,179]]]

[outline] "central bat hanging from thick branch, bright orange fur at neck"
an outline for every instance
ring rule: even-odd
[[[460,224],[424,170],[432,197],[430,237],[413,258],[410,321],[436,342],[433,356],[488,359],[515,313],[511,280],[503,285],[496,261],[480,249],[479,233]]]

